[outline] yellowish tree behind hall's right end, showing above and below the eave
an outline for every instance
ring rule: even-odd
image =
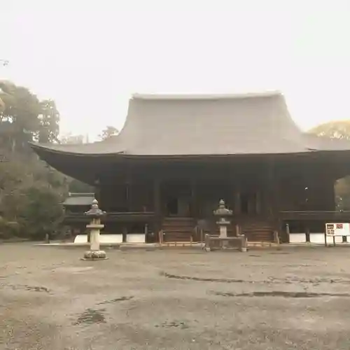
[[[350,120],[339,120],[328,122],[309,131],[321,137],[329,137],[330,139],[342,139],[350,141]],[[350,209],[350,176],[338,179],[335,183],[335,202],[337,209]]]

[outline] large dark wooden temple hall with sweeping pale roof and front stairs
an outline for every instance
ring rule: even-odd
[[[94,186],[106,234],[199,241],[216,232],[220,200],[233,211],[228,234],[239,227],[248,241],[288,241],[287,226],[322,232],[349,220],[335,209],[334,184],[350,174],[350,142],[302,132],[280,92],[135,94],[120,134],[31,147]]]

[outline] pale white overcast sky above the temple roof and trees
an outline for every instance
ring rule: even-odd
[[[0,22],[0,78],[55,99],[63,133],[120,129],[134,92],[281,90],[303,129],[350,119],[350,0],[0,0]]]

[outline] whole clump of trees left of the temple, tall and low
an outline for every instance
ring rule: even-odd
[[[62,218],[69,181],[38,160],[27,141],[55,142],[59,113],[27,88],[0,81],[0,236],[43,238]]]

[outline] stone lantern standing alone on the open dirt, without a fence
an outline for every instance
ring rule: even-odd
[[[101,218],[106,215],[106,211],[99,209],[99,202],[95,199],[85,215],[90,218],[90,223],[86,225],[87,230],[90,230],[90,251],[85,251],[83,260],[106,259],[106,252],[99,249],[99,231],[104,228]]]

